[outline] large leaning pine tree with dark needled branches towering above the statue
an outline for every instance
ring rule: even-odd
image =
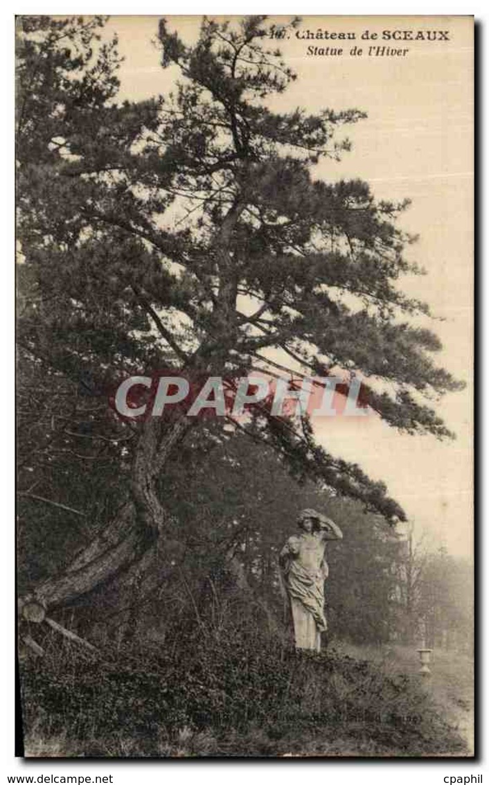
[[[432,362],[436,335],[414,326],[427,306],[397,283],[420,272],[396,223],[405,205],[378,202],[360,180],[315,179],[321,159],[349,149],[338,129],[364,115],[271,111],[295,77],[268,48],[267,24],[205,19],[187,46],[162,20],[162,68],[180,72],[173,93],[121,104],[104,19],[18,20],[20,363],[76,399],[58,425],[45,399],[27,397],[25,422],[38,418],[42,433],[33,445],[27,427],[25,445],[47,450],[48,462],[68,451],[81,468],[98,456],[127,480],[117,509],[100,514],[31,604],[64,604],[108,580],[133,585],[165,559],[158,478],[195,418],[87,414],[86,400],[121,374],[165,367],[232,379],[271,369],[275,349],[305,374],[359,375],[370,407],[396,429],[451,435],[430,400],[460,385]],[[294,472],[403,519],[383,484],[315,443],[307,418],[257,406],[239,427]],[[21,470],[20,491],[31,480]]]

